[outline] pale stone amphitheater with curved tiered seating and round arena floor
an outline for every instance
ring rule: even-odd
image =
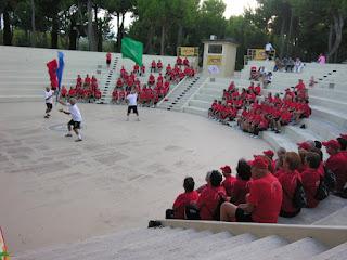
[[[203,184],[206,171],[241,157],[346,133],[347,65],[273,73],[265,94],[314,76],[312,116],[306,129],[288,126],[255,139],[207,119],[207,109],[231,80],[247,87],[250,66],[272,70],[271,62],[250,61],[234,78],[183,79],[157,108],[141,107],[138,122],[125,120],[125,106],[110,104],[130,60],[114,53],[107,69],[105,53],[64,53],[63,83],[95,75],[103,93],[100,104],[79,104],[85,140],[78,144],[64,138],[68,118],[56,107],[43,119],[46,63],[56,50],[0,47],[0,224],[12,259],[347,259],[347,203],[334,196],[279,224],[163,219],[187,176]],[[158,58],[176,61],[144,55],[143,62]],[[160,227],[147,229],[150,220]]]

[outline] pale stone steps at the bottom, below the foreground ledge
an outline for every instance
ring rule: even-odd
[[[188,221],[183,224],[187,224]],[[200,224],[200,223],[197,223]],[[223,227],[230,223],[205,222],[206,225]],[[174,223],[175,225],[175,223]],[[232,225],[232,224],[231,224]],[[235,223],[233,223],[235,225]],[[274,225],[272,225],[274,226]],[[257,226],[255,226],[257,229]],[[281,227],[278,227],[281,229]],[[318,229],[318,227],[310,227]],[[237,230],[237,229],[236,229]],[[252,231],[252,229],[249,229]],[[272,230],[272,229],[271,229]],[[257,233],[257,232],[256,232]],[[281,232],[280,232],[281,233]],[[333,245],[324,245],[317,238],[287,234],[256,235],[248,232],[230,233],[208,229],[197,231],[182,227],[155,227],[127,230],[112,235],[89,238],[14,256],[15,260],[113,260],[113,259],[346,259],[346,235],[336,234]]]

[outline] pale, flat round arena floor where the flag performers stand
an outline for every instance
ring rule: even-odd
[[[10,252],[76,242],[164,218],[182,180],[269,148],[198,116],[79,104],[83,142],[64,138],[69,117],[41,103],[0,103],[0,225]]]

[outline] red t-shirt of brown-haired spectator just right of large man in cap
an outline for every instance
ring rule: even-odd
[[[300,179],[300,173],[296,170],[294,172],[285,171],[279,177],[279,181],[283,188],[283,202],[281,209],[287,213],[293,213],[298,210],[293,205],[293,197],[297,185],[297,180]]]

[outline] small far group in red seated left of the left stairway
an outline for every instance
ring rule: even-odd
[[[98,87],[98,79],[94,76],[90,78],[87,74],[85,79],[78,75],[76,79],[76,86],[72,86],[69,90],[63,86],[61,95],[62,98],[75,98],[77,100],[90,103],[91,101],[101,99],[101,91]]]

